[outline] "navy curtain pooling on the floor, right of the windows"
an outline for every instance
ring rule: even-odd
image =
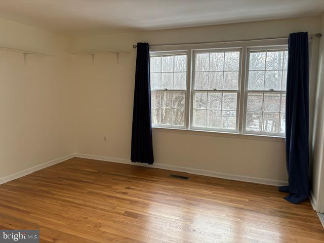
[[[298,204],[308,197],[308,34],[292,33],[288,43],[286,96],[286,161],[289,193],[285,197]]]

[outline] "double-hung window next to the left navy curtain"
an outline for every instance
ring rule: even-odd
[[[187,54],[151,54],[150,79],[152,125],[185,128]]]

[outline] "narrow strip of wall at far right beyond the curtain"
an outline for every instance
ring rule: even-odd
[[[324,33],[324,16],[322,17],[322,30]],[[314,130],[313,130],[313,146],[311,154],[313,156],[310,175],[312,181],[312,193],[317,210],[324,212],[324,38],[320,40],[319,56],[318,56],[318,79],[315,96],[315,113],[314,113]]]

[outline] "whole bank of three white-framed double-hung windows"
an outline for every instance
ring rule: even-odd
[[[151,52],[152,126],[285,135],[287,46]]]

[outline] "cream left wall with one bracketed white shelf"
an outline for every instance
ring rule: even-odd
[[[0,19],[0,46],[50,53],[27,57],[0,51],[0,180],[73,153],[70,39]]]

